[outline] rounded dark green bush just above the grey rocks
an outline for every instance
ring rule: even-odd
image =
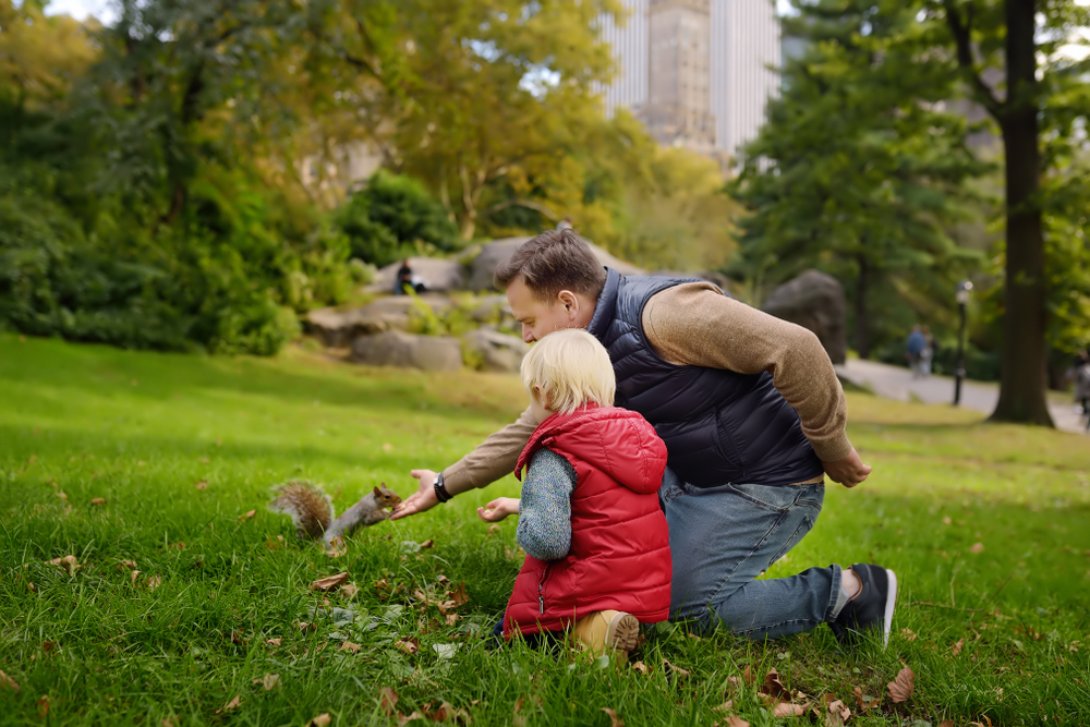
[[[334,219],[348,237],[353,257],[376,267],[460,247],[457,227],[424,185],[384,170],[352,194]]]

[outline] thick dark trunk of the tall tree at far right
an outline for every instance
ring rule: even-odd
[[[1038,189],[1034,0],[1006,0],[1007,102],[1000,119],[1006,156],[1006,283],[996,422],[1053,426],[1045,401],[1044,234]]]

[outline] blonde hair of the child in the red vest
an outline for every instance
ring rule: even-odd
[[[579,328],[558,330],[534,343],[522,360],[522,383],[530,396],[536,387],[542,404],[561,414],[589,403],[613,407],[617,392],[605,347]]]

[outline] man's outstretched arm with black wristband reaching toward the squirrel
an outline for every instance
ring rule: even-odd
[[[536,428],[537,420],[528,407],[516,422],[488,435],[476,449],[444,470],[443,486],[451,495],[458,495],[474,487],[486,487],[510,474]],[[431,510],[439,504],[435,497],[435,472],[413,470],[411,474],[420,480],[420,488],[401,504],[392,520]]]

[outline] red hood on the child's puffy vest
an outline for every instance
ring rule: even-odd
[[[553,414],[526,443],[516,477],[522,478],[530,456],[541,447],[569,460],[583,460],[641,495],[656,493],[663,484],[666,445],[647,420],[633,411],[591,404],[571,414]]]

